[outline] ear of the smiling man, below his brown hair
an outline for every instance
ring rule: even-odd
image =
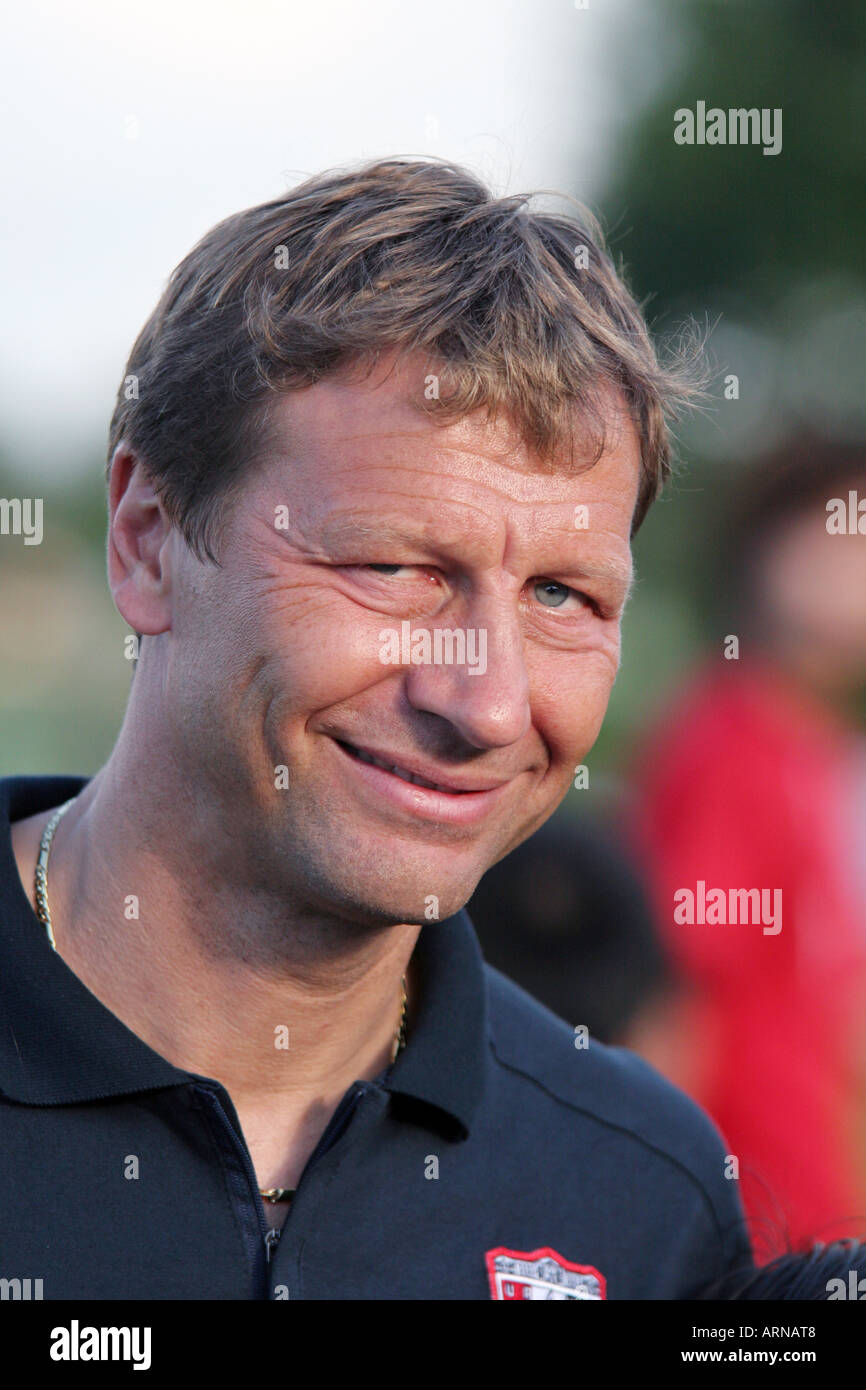
[[[171,521],[140,459],[121,442],[108,477],[108,587],[142,635],[171,627]]]

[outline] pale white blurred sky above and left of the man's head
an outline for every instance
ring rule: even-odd
[[[7,463],[92,467],[172,267],[309,174],[439,154],[498,192],[591,203],[623,92],[659,76],[648,24],[637,0],[18,7],[0,67]]]

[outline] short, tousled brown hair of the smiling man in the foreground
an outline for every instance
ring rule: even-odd
[[[442,364],[446,420],[506,411],[546,457],[575,416],[601,456],[602,391],[634,418],[632,531],[670,471],[667,421],[691,395],[662,366],[596,221],[493,197],[438,160],[381,160],[307,179],[218,222],[181,261],[139,334],[108,436],[132,448],[172,521],[215,562],[220,503],[261,443],[275,392],[386,350]]]

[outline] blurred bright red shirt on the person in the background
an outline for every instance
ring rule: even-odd
[[[759,1258],[866,1233],[860,764],[852,734],[769,667],[720,660],[666,712],[639,771],[638,848],[695,991],[689,1090],[740,1161]],[[699,880],[781,888],[781,930],[677,923],[674,892]]]

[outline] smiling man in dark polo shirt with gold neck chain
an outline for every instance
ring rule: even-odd
[[[3,784],[3,1273],[46,1298],[674,1298],[749,1258],[709,1120],[461,912],[598,734],[683,392],[595,229],[524,202],[314,178],[132,350],[126,716],[92,780]]]

